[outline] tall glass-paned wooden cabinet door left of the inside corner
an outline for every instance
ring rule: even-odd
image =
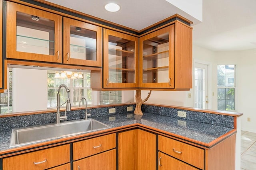
[[[104,29],[104,88],[138,87],[138,37]]]

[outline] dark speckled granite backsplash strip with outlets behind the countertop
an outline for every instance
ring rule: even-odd
[[[115,106],[116,113],[108,113],[108,109],[114,108],[113,106],[88,108],[87,112],[91,113],[91,116],[88,116],[88,117],[100,117],[100,116],[106,116],[106,115],[127,113],[126,107],[128,106],[132,106],[134,110],[136,105],[131,104],[131,105],[125,105],[125,106]],[[178,117],[177,111],[186,111],[186,118]],[[142,112],[154,113],[154,114],[174,117],[178,119],[185,119],[185,120],[187,119],[190,121],[198,121],[198,122],[208,123],[212,125],[234,128],[234,117],[228,116],[228,115],[218,115],[218,114],[204,113],[204,112],[198,112],[198,111],[175,109],[170,107],[151,106],[146,104],[142,105]],[[65,112],[61,112],[61,115],[64,115],[64,114]],[[84,119],[84,117],[85,117],[84,109],[67,112],[67,120]],[[55,123],[55,122],[56,122],[56,112],[34,114],[34,115],[20,115],[20,116],[13,116],[13,117],[2,117],[0,118],[0,129],[8,130],[8,129],[18,128],[18,127],[43,125],[46,123]]]

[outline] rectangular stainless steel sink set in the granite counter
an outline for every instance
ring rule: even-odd
[[[12,129],[10,147],[27,145],[61,137],[69,137],[107,129],[110,126],[94,119],[67,121],[60,124],[41,125]]]

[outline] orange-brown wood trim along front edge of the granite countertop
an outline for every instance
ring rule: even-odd
[[[40,149],[46,149],[49,147],[54,147],[54,146],[58,146],[58,145],[64,145],[67,143],[71,143],[71,142],[76,142],[76,141],[80,141],[80,140],[84,140],[84,139],[90,139],[93,137],[98,137],[98,136],[102,136],[102,135],[107,135],[110,133],[116,133],[119,131],[125,131],[125,130],[130,130],[130,129],[144,129],[146,131],[151,131],[152,133],[156,133],[158,135],[164,135],[166,137],[170,137],[172,139],[176,139],[178,141],[182,141],[184,143],[188,143],[190,145],[196,146],[196,147],[200,147],[202,149],[211,149],[212,147],[214,147],[215,145],[217,145],[218,143],[220,143],[221,141],[227,139],[228,137],[230,137],[231,135],[234,135],[236,133],[236,129],[233,129],[231,131],[229,131],[228,133],[225,133],[224,135],[218,137],[217,139],[214,139],[212,142],[210,143],[204,143],[204,142],[200,142],[194,139],[190,139],[181,135],[177,135],[175,133],[170,133],[164,130],[160,130],[154,127],[150,127],[147,125],[142,125],[140,123],[134,123],[134,124],[130,124],[130,125],[123,125],[120,127],[113,127],[110,129],[104,129],[104,130],[100,130],[100,131],[94,131],[91,133],[84,133],[81,135],[76,135],[76,136],[72,136],[72,137],[65,137],[62,139],[55,139],[52,141],[46,141],[46,142],[42,142],[42,143],[36,143],[36,144],[32,144],[32,145],[26,145],[26,146],[22,146],[22,147],[16,147],[16,148],[9,148],[6,150],[1,150],[0,151],[0,158],[4,158],[7,156],[13,156],[16,154],[22,154],[22,153],[26,153],[26,152],[31,152],[31,151],[35,151],[35,150],[40,150]]]

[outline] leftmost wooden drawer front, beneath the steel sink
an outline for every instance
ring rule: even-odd
[[[42,170],[70,162],[69,145],[52,147],[3,159],[3,170]]]

